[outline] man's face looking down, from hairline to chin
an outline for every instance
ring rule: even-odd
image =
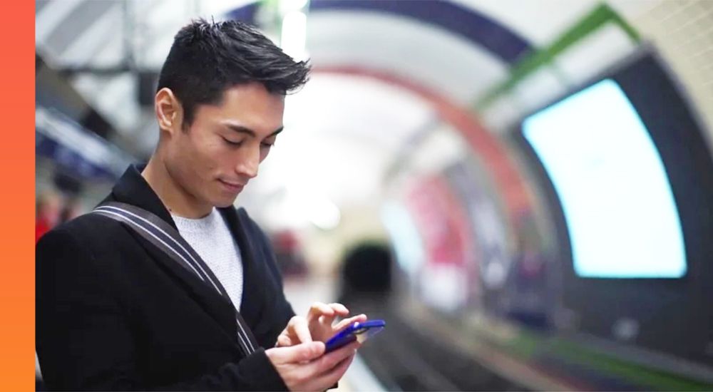
[[[261,83],[227,88],[219,105],[198,105],[188,129],[167,140],[171,177],[199,204],[227,207],[282,130],[284,96]]]

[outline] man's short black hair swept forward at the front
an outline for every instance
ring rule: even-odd
[[[173,38],[157,91],[173,91],[188,126],[197,105],[220,103],[227,88],[260,82],[270,93],[285,95],[307,83],[309,68],[247,24],[198,19]]]

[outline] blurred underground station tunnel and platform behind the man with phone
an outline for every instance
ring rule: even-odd
[[[713,389],[713,1],[36,0],[36,237],[158,140],[197,17],[309,58],[237,199],[340,389]],[[38,384],[41,388],[41,384]]]

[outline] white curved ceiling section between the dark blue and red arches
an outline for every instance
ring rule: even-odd
[[[386,14],[315,13],[309,19],[307,47],[317,67],[349,64],[379,69],[463,105],[508,74],[506,63],[460,36]]]

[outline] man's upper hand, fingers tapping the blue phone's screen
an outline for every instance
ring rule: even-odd
[[[339,321],[333,326],[332,323],[334,323],[334,319],[337,316],[349,316],[349,309],[342,304],[315,302],[309,308],[306,319],[301,316],[294,316],[289,320],[282,334],[277,336],[277,347],[294,346],[295,344],[309,341],[326,342],[334,334],[347,328],[354,321],[359,321],[360,323],[366,321],[366,315],[359,314],[359,316]]]

